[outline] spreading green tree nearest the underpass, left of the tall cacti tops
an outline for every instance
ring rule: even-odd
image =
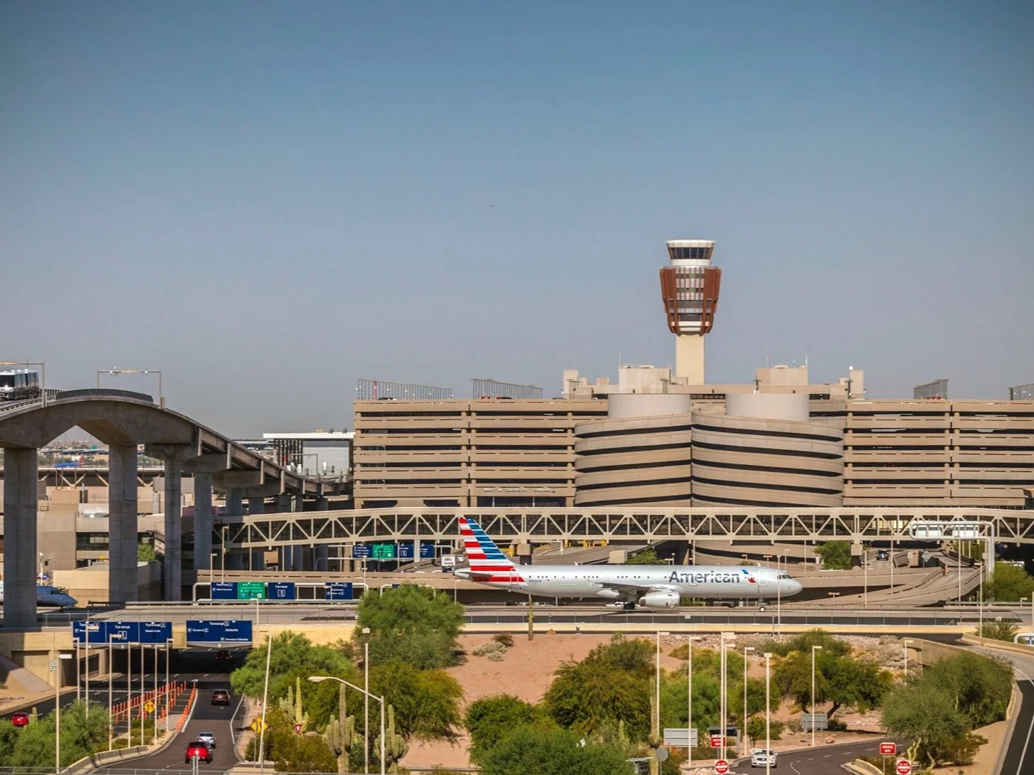
[[[248,652],[244,664],[230,676],[234,691],[251,698],[262,698],[266,676],[266,646]],[[271,704],[286,696],[287,688],[301,678],[302,702],[308,709],[309,720],[322,727],[337,711],[337,686],[334,682],[309,683],[309,676],[336,676],[352,683],[359,680],[359,672],[337,649],[313,646],[308,638],[298,632],[281,632],[273,639],[273,653],[269,668],[269,699]]]

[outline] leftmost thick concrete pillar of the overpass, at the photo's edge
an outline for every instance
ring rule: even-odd
[[[3,626],[36,626],[35,450],[5,448],[4,456],[4,610]]]

